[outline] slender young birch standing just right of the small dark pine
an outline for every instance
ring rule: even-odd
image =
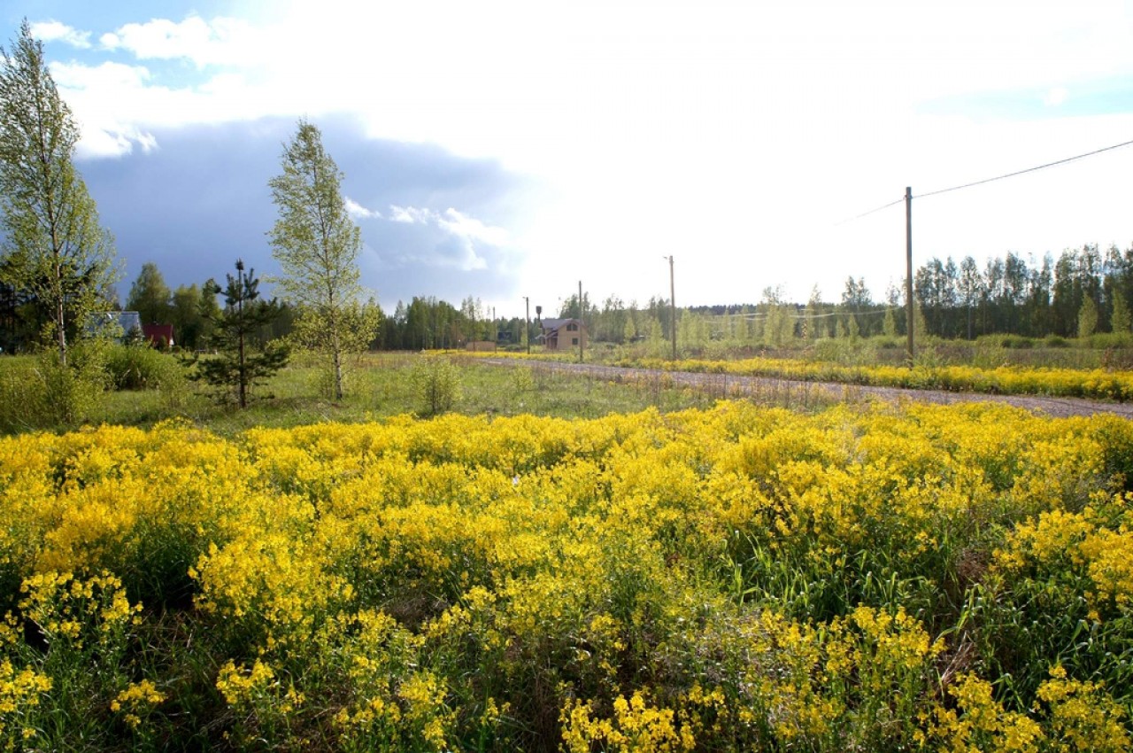
[[[365,350],[377,329],[376,305],[363,303],[359,282],[361,231],[317,127],[300,120],[281,162],[282,175],[269,181],[279,209],[269,237],[283,271],[272,282],[299,308],[297,337],[327,357],[334,399],[341,400],[344,357]]]

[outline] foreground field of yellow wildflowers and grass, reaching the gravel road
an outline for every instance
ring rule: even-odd
[[[118,392],[0,439],[0,739],[1133,744],[1130,422],[478,364],[425,420],[378,364],[343,405],[297,369],[245,414]]]

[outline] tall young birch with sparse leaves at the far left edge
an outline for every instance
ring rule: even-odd
[[[67,330],[84,320],[118,277],[113,244],[75,170],[79,132],[25,19],[0,50],[0,256],[9,285],[32,294],[49,316],[45,339],[67,363]],[[75,325],[78,324],[78,328]]]

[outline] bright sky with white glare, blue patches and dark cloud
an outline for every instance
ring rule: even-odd
[[[123,260],[278,270],[267,181],[306,118],[363,284],[500,316],[591,301],[880,301],[913,256],[1133,246],[1133,3],[5,0],[82,128]],[[885,210],[858,215],[891,202]],[[849,220],[849,221],[847,221]]]

